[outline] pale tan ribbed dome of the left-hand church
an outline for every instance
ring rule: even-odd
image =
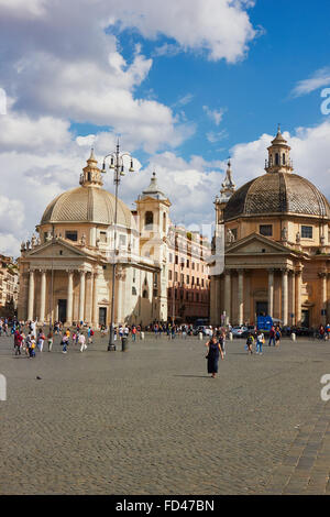
[[[41,224],[58,222],[91,222],[112,224],[114,196],[97,186],[74,188],[57,196],[46,208]],[[127,205],[118,200],[118,224],[135,229],[135,221]]]

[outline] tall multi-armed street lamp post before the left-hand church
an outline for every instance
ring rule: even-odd
[[[118,188],[120,185],[121,176],[124,176],[124,164],[123,157],[129,156],[131,158],[131,166],[129,172],[133,173],[133,158],[129,153],[120,153],[119,141],[117,142],[116,151],[107,154],[103,158],[102,173],[106,173],[106,161],[110,157],[109,168],[113,169],[113,183],[114,183],[114,219],[113,219],[113,256],[112,256],[112,295],[111,295],[111,320],[110,320],[110,337],[108,343],[108,351],[116,350],[114,344],[114,284],[116,284],[116,262],[117,262],[117,212],[118,212]]]

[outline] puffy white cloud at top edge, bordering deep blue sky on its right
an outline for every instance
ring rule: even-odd
[[[252,0],[121,0],[112,2],[113,18],[123,28],[135,26],[147,38],[164,34],[184,51],[205,51],[209,59],[235,63],[256,36],[248,8]],[[163,52],[173,50],[163,45]],[[158,50],[160,52],[160,50]]]

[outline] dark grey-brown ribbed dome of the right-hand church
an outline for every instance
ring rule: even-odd
[[[224,208],[224,221],[244,216],[297,213],[330,219],[326,197],[293,173],[267,173],[237,190]]]

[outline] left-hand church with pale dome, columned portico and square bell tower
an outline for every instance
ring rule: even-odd
[[[94,151],[79,183],[46,207],[38,237],[22,243],[19,319],[108,326],[114,282],[116,324],[167,321],[170,201],[155,173],[136,210],[118,199],[116,243],[116,198],[102,188]]]

